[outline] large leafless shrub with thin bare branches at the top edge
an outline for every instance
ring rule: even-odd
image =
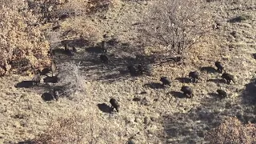
[[[203,0],[161,0],[150,2],[143,20],[144,41],[167,46],[182,54],[210,30],[210,14]]]

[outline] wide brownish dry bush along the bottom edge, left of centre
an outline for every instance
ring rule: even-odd
[[[86,110],[86,115],[66,114],[49,122],[46,130],[30,142],[35,144],[122,142],[119,138],[112,137],[113,134],[117,134],[120,127],[105,120],[102,122],[106,125],[100,125],[99,119],[91,109]]]

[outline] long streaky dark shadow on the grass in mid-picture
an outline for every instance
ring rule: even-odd
[[[132,47],[132,46],[131,46]],[[80,51],[72,57],[66,54],[56,52],[56,60],[58,62],[80,62],[81,70],[85,71],[87,78],[92,75],[96,76],[94,80],[102,80],[105,82],[119,81],[129,78],[129,71],[127,66],[142,65],[143,75],[150,75],[154,73],[154,66],[163,65],[164,63],[176,63],[176,58],[163,55],[146,55],[146,54],[132,54],[132,51],[122,50],[122,46],[117,45],[109,47],[110,52],[106,53],[109,59],[108,63],[101,62],[99,56],[104,54],[102,48],[99,46],[86,48],[85,51]],[[114,52],[111,52],[113,50]]]

